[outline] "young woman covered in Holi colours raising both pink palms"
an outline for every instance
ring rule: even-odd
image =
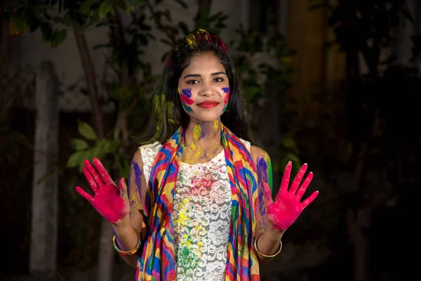
[[[225,44],[198,30],[171,51],[135,152],[128,188],[100,160],[85,161],[94,195],[76,187],[114,228],[114,248],[136,280],[260,280],[283,233],[318,195],[291,163],[272,200],[272,166],[251,145],[245,102]]]

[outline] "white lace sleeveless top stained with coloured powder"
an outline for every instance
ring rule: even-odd
[[[140,147],[146,181],[160,149]],[[173,204],[178,281],[225,280],[231,199],[224,150],[206,163],[180,164]]]

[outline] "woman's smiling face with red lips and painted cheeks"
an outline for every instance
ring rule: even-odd
[[[189,117],[213,122],[225,111],[229,81],[225,68],[213,53],[195,55],[178,79],[182,107]]]

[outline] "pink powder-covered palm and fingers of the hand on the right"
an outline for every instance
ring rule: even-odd
[[[273,228],[279,232],[285,231],[294,223],[298,216],[300,216],[302,210],[312,203],[317,195],[319,195],[319,191],[315,191],[312,195],[307,197],[306,200],[301,202],[302,195],[304,195],[313,178],[313,173],[309,173],[307,178],[305,178],[304,183],[300,186],[302,177],[307,170],[307,164],[301,166],[300,171],[298,171],[297,176],[295,176],[294,181],[288,190],[291,167],[291,162],[288,162],[285,171],[283,172],[281,188],[276,195],[275,201],[272,200],[269,185],[267,185],[267,183],[264,184],[267,201],[267,227],[271,230]]]

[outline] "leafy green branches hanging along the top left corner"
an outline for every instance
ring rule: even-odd
[[[33,0],[6,1],[4,15],[10,23],[10,32],[20,35],[29,30],[42,32],[44,42],[52,47],[63,44],[69,28],[84,30],[98,25],[114,7],[129,11],[142,4],[141,0]]]

